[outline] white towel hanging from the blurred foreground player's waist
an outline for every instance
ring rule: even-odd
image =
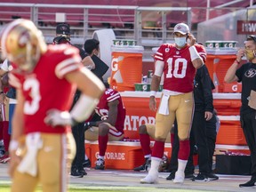
[[[43,147],[43,140],[41,140],[39,132],[29,133],[26,136],[26,147],[28,148],[28,151],[22,158],[18,166],[18,171],[22,173],[27,172],[31,176],[35,177],[37,174],[37,151],[39,148]]]

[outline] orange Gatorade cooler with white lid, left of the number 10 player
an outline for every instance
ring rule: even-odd
[[[110,87],[119,92],[134,91],[141,82],[142,46],[112,45]]]

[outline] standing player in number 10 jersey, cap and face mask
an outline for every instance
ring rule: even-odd
[[[156,111],[156,91],[164,74],[164,90],[156,112],[155,145],[151,157],[151,169],[141,183],[156,183],[158,166],[164,154],[164,141],[171,130],[170,124],[177,119],[180,139],[178,171],[174,183],[183,183],[184,170],[189,156],[189,132],[193,117],[193,80],[196,68],[204,65],[204,46],[196,44],[188,25],[174,27],[175,44],[162,44],[155,54],[155,74],[152,78],[149,108]],[[189,43],[188,43],[189,42]]]

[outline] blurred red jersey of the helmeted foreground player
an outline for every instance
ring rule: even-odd
[[[15,67],[10,83],[20,88],[25,98],[24,129],[29,132],[70,132],[70,126],[44,124],[46,112],[52,108],[68,111],[71,107],[76,86],[64,76],[82,68],[78,49],[70,45],[49,45],[30,73],[19,72]]]

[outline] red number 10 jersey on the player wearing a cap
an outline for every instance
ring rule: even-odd
[[[204,46],[195,44],[200,57],[206,60]],[[164,61],[164,89],[172,92],[192,92],[196,68],[192,64],[189,46],[177,49],[175,44],[162,44],[155,60]]]

